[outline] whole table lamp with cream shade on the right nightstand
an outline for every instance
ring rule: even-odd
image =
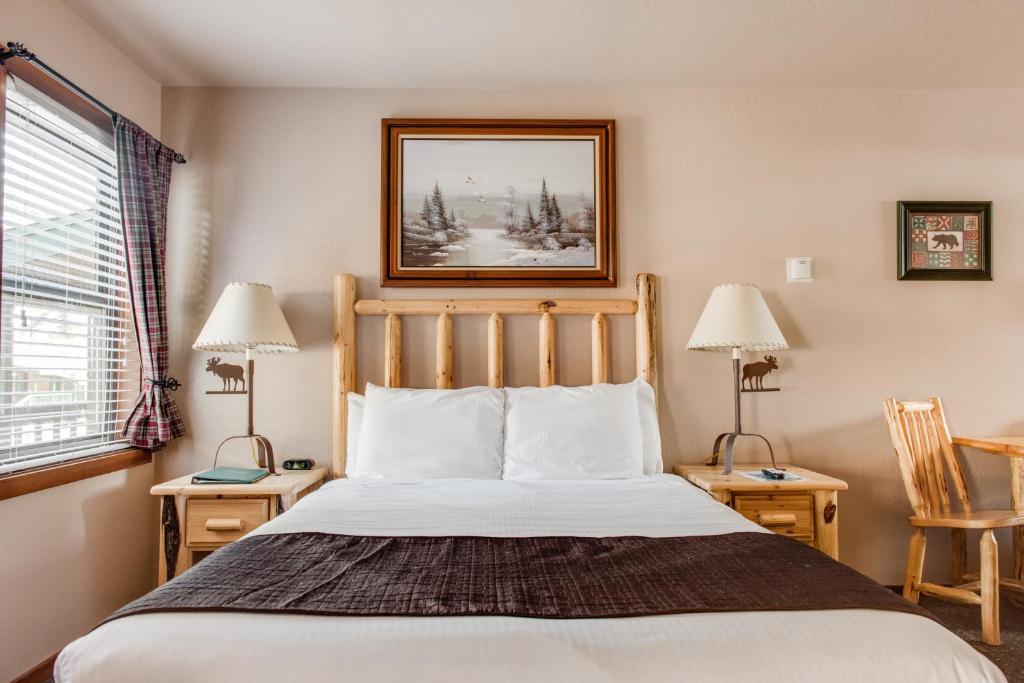
[[[733,403],[736,421],[731,432],[715,439],[712,465],[718,464],[719,449],[725,441],[724,474],[732,472],[732,446],[740,436],[757,436],[768,444],[772,467],[775,452],[761,434],[743,431],[739,411],[739,359],[742,351],[779,351],[790,348],[775,324],[757,285],[719,285],[708,299],[700,319],[686,348],[697,351],[732,351]]]

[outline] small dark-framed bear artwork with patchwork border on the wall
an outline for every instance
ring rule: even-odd
[[[900,202],[900,280],[991,280],[991,202]]]

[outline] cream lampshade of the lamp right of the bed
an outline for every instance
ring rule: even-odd
[[[757,285],[719,285],[712,291],[686,348],[779,351],[790,345]]]

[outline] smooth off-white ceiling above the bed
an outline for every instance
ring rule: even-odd
[[[66,2],[164,85],[1024,87],[1024,0]]]

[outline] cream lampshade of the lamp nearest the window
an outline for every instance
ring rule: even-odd
[[[282,353],[298,351],[299,345],[269,285],[231,283],[224,288],[193,348]]]

